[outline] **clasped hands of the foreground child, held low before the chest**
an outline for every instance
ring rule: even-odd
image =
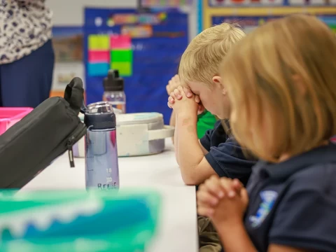
[[[238,179],[211,176],[197,191],[197,211],[218,223],[243,220],[248,205],[247,191]]]

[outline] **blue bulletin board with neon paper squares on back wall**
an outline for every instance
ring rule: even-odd
[[[125,79],[127,113],[159,112],[169,122],[166,85],[188,45],[188,16],[177,9],[85,8],[87,104],[102,100],[103,79],[118,69]]]

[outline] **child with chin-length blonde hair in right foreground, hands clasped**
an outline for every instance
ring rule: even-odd
[[[219,69],[230,123],[260,162],[246,188],[213,176],[197,193],[225,252],[336,251],[336,39],[292,15],[248,34]]]

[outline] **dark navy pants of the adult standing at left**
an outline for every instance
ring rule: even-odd
[[[0,106],[35,108],[48,99],[54,62],[50,40],[30,55],[0,64]]]

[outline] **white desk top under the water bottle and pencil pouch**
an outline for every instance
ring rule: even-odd
[[[151,188],[162,194],[158,234],[151,252],[198,251],[196,196],[194,186],[185,186],[176,165],[171,139],[158,155],[119,158],[120,188]],[[70,168],[68,153],[55,160],[22,190],[85,188],[84,159]]]

